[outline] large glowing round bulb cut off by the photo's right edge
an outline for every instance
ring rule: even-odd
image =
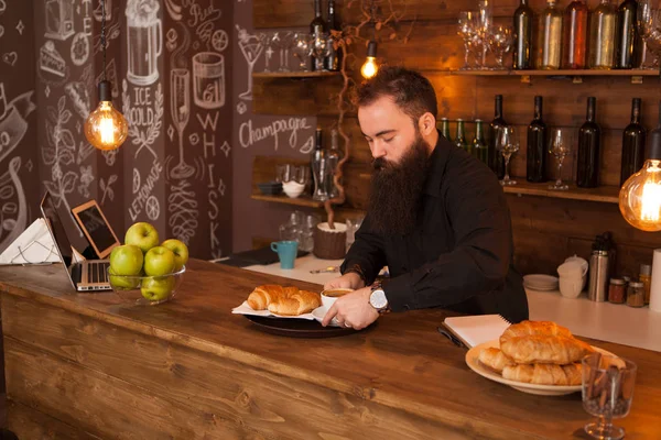
[[[632,227],[661,231],[661,161],[648,160],[642,169],[622,185],[620,212]]]

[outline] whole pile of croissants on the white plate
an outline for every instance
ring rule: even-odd
[[[581,359],[594,349],[551,321],[522,321],[484,349],[479,362],[503,378],[538,385],[581,385]]]

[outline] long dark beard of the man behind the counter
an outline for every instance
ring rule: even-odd
[[[399,164],[378,157],[369,194],[371,230],[379,234],[408,234],[415,227],[430,168],[427,145],[420,135]]]

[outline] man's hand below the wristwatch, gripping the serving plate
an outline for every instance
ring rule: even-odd
[[[322,326],[326,327],[333,318],[342,327],[360,330],[379,318],[379,312],[369,304],[371,289],[365,287],[340,296],[326,312]]]

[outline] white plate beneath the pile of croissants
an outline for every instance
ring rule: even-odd
[[[498,343],[498,340],[485,342],[485,343],[474,346],[473,349],[468,350],[468,353],[466,353],[466,365],[468,365],[468,367],[470,370],[473,370],[474,372],[476,372],[477,374],[479,374],[483,377],[486,377],[494,382],[499,382],[505,385],[509,385],[512,388],[518,389],[523,393],[537,394],[540,396],[564,396],[565,394],[581,392],[581,385],[538,385],[538,384],[527,384],[524,382],[510,381],[510,380],[502,377],[500,374],[496,373],[494,370],[483,365],[479,362],[479,352],[480,351],[483,351],[484,349],[499,348],[499,346],[500,346],[500,344]],[[592,345],[592,348],[604,354],[615,356],[615,354],[613,354],[606,350],[602,350],[594,345]]]

